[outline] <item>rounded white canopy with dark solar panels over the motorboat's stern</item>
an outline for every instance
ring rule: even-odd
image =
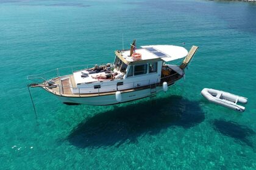
[[[161,58],[163,61],[172,61],[179,58],[184,58],[188,55],[188,51],[184,47],[172,46],[172,45],[151,45],[151,46],[141,46],[142,48],[148,50],[152,54]]]

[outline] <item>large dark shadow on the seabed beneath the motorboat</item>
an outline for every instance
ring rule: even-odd
[[[79,148],[120,146],[136,142],[137,137],[157,134],[172,126],[190,128],[204,121],[199,102],[177,95],[159,98],[152,104],[144,101],[116,107],[80,123],[68,135],[67,140]]]

